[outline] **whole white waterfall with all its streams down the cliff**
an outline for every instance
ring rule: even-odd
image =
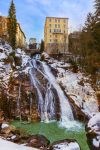
[[[37,64],[37,62],[39,64]],[[68,122],[74,120],[68,98],[65,96],[60,85],[57,83],[55,76],[50,70],[50,67],[45,62],[36,61],[35,59],[31,60],[29,64],[31,67],[29,70],[31,83],[35,87],[38,95],[38,110],[41,116],[41,121],[48,122],[49,120],[56,118],[56,96],[53,93],[53,88],[55,89],[60,102],[61,121]],[[46,87],[40,83],[37,73],[41,74],[47,81]],[[43,94],[43,90],[45,90],[45,95]]]

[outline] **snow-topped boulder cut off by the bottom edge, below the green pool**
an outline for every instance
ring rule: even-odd
[[[49,150],[80,150],[80,146],[75,140],[61,140],[54,142]]]

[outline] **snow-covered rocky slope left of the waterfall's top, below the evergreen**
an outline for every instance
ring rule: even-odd
[[[17,58],[21,60],[19,66],[15,66],[14,58],[12,57],[13,52],[16,60],[18,61]],[[7,89],[11,77],[17,77],[21,72],[28,73],[28,68],[24,68],[29,59],[30,57],[22,49],[18,48],[13,51],[9,44],[0,39],[0,84]],[[12,66],[16,67],[16,70],[13,70]]]

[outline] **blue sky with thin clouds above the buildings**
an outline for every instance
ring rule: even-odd
[[[11,0],[0,0],[0,15],[7,16]],[[69,31],[83,25],[88,12],[93,10],[93,0],[14,0],[17,20],[27,39],[41,40],[46,16],[69,18]]]

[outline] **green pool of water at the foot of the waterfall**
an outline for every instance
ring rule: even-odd
[[[31,123],[23,124],[19,121],[14,121],[11,124],[24,129],[29,134],[41,134],[47,137],[50,142],[63,140],[63,139],[76,139],[81,150],[89,150],[86,142],[86,133],[84,125],[72,126],[71,128],[64,128],[60,122],[54,121],[50,123]]]

